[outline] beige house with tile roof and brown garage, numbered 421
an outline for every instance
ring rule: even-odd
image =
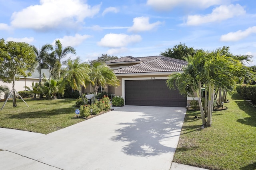
[[[105,89],[108,93],[124,98],[125,105],[186,107],[186,96],[166,85],[168,76],[181,72],[186,61],[164,56],[121,57],[106,62],[120,80],[119,87]],[[82,93],[92,92],[92,87]]]

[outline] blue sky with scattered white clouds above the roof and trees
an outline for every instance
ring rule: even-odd
[[[255,0],[0,0],[0,4],[0,38],[38,48],[59,39],[64,47],[74,47],[82,61],[102,54],[159,55],[181,42],[209,51],[226,45],[234,55],[253,55],[253,63],[246,65],[256,65]]]

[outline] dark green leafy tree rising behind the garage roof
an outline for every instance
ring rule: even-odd
[[[184,60],[185,55],[194,55],[196,53],[196,50],[193,47],[186,46],[185,43],[179,43],[178,45],[175,45],[172,48],[167,48],[166,51],[161,52],[160,55],[170,57],[170,58],[176,58]]]

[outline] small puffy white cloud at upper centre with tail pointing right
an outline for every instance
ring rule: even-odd
[[[128,28],[128,32],[149,31],[160,24],[162,24],[160,21],[150,24],[148,17],[137,17],[133,19],[133,26]]]

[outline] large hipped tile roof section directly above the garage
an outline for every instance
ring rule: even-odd
[[[124,74],[182,71],[182,68],[187,65],[186,61],[164,56],[137,57],[137,59],[140,59],[141,62],[116,69],[114,72],[116,74]]]

